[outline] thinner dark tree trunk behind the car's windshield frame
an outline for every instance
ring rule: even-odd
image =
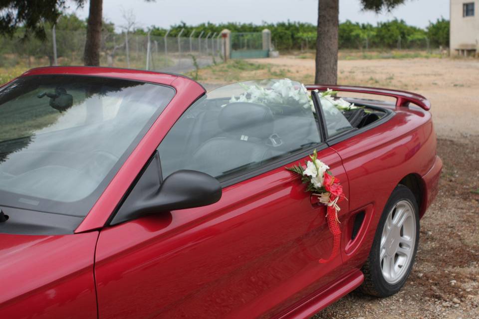
[[[86,27],[85,65],[100,65],[101,17],[103,0],[90,0],[90,11]]]

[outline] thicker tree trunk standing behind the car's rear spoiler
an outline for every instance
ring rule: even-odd
[[[319,0],[314,83],[336,85],[338,81],[339,0]]]

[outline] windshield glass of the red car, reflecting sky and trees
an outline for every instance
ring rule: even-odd
[[[85,216],[174,95],[73,75],[28,76],[0,89],[0,207]]]

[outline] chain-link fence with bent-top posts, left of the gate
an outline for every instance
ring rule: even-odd
[[[47,30],[46,39],[0,37],[0,68],[83,65],[85,31]],[[56,45],[54,45],[54,42]],[[100,65],[185,73],[223,60],[222,38],[103,32]]]

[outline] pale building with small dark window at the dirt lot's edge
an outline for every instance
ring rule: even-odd
[[[451,55],[479,55],[479,0],[451,0]]]

